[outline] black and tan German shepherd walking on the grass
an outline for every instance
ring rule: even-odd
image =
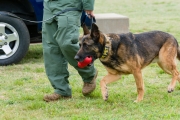
[[[133,74],[137,87],[137,99],[143,100],[144,82],[141,70],[152,62],[168,74],[172,75],[168,92],[173,92],[176,80],[180,81],[176,58],[180,60],[180,47],[170,34],[161,31],[150,31],[140,34],[103,34],[96,24],[92,24],[91,32],[83,25],[84,36],[80,41],[80,49],[75,59],[83,61],[91,56],[92,63],[99,58],[108,74],[100,81],[104,100],[108,99],[106,85],[117,81],[124,74]]]

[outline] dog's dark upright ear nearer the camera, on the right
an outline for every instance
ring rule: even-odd
[[[99,40],[100,31],[99,31],[98,26],[95,23],[92,24],[90,36],[91,38],[94,38],[94,40]]]

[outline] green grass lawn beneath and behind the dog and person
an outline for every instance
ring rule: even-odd
[[[178,0],[96,0],[95,13],[117,13],[129,17],[130,32],[161,30],[180,43],[180,1]],[[121,26],[119,26],[121,27]],[[106,75],[99,60],[97,88],[91,96],[81,93],[82,80],[69,66],[73,98],[52,103],[42,100],[53,92],[46,77],[42,44],[31,44],[28,54],[17,65],[0,67],[0,120],[179,120],[180,84],[167,93],[171,76],[156,64],[143,70],[145,96],[136,99],[132,75],[108,85],[109,99],[103,101],[99,81]],[[180,63],[178,62],[180,70]]]

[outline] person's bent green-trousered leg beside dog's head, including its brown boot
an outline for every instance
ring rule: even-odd
[[[78,71],[84,81],[83,94],[91,93],[95,87],[95,79],[97,71],[94,65],[85,68],[79,68],[77,61],[74,59],[77,51],[79,50],[79,16],[58,16],[58,30],[55,34],[55,38],[59,43],[60,49],[67,59],[67,61]]]

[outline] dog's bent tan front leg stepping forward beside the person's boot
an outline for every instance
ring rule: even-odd
[[[102,93],[102,97],[103,100],[107,100],[108,99],[108,90],[107,90],[107,84],[117,81],[118,79],[120,79],[120,75],[116,74],[108,74],[106,75],[101,81],[100,81],[100,86],[101,86],[101,93]]]

